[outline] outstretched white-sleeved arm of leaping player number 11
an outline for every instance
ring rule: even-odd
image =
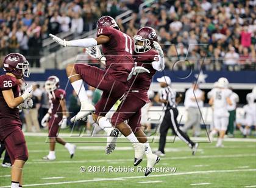
[[[63,45],[64,47],[70,46],[70,47],[93,47],[94,45],[99,45],[99,44],[105,44],[108,41],[110,41],[109,36],[105,35],[100,35],[98,38],[85,38],[85,39],[77,39],[73,41],[66,41],[65,39],[61,39],[55,35],[50,34],[51,38],[57,42],[60,45]]]

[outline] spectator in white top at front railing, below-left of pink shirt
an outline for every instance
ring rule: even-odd
[[[235,65],[238,65],[239,62],[239,55],[235,52],[234,47],[230,47],[229,52],[226,53],[225,59],[224,59],[224,67],[225,69],[233,70],[235,68]]]

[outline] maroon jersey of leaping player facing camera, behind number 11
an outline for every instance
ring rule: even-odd
[[[156,70],[152,67],[153,61],[158,61],[158,52],[154,49],[145,53],[133,53],[133,59],[137,62],[137,66],[145,67],[150,73],[139,73],[133,76],[135,81],[130,88],[130,93],[145,102],[149,102],[148,90],[151,85],[152,77]]]

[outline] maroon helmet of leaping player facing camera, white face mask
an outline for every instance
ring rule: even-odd
[[[138,30],[137,35],[133,37],[135,52],[144,53],[151,50],[153,45],[153,41],[157,41],[157,32],[151,27],[142,27]]]

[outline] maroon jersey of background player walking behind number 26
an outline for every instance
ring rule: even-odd
[[[65,99],[66,92],[63,89],[55,89],[54,92],[48,93],[48,96],[52,116],[57,114],[59,117],[62,117],[62,106],[60,106],[60,100]]]

